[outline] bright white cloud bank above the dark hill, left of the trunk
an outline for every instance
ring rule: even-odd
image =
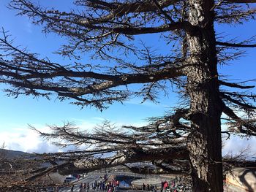
[[[81,130],[92,131],[92,129],[101,124],[105,119],[104,118],[91,118],[89,120],[83,119],[72,119]],[[124,122],[111,122],[115,126],[121,127],[126,125]],[[61,125],[61,123],[59,123]],[[129,123],[130,126],[145,126],[146,122],[132,122]],[[32,125],[37,128],[39,131],[49,132],[50,128],[48,126],[42,125]],[[9,123],[5,125],[7,128],[0,127],[0,145],[5,144],[8,150],[20,150],[24,152],[35,152],[35,153],[48,153],[48,152],[58,152],[63,150],[75,150],[75,147],[68,148],[59,148],[55,145],[52,145],[50,141],[42,139],[39,137],[36,131],[31,130],[27,125],[18,125],[14,123]],[[85,145],[82,145],[81,148],[85,148]]]

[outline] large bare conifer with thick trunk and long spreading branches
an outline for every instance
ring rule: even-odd
[[[152,161],[167,172],[190,174],[193,191],[223,191],[222,114],[229,126],[223,133],[255,136],[256,108],[255,94],[247,91],[254,86],[222,79],[217,65],[241,55],[238,49],[256,45],[254,37],[243,42],[217,39],[214,25],[254,19],[256,9],[250,3],[255,2],[76,0],[77,9],[60,12],[31,1],[12,0],[9,7],[29,16],[43,32],[67,37],[69,42],[58,53],[69,57],[71,64],[15,47],[3,31],[0,82],[12,85],[6,90],[10,96],[50,98],[56,93],[61,100],[72,99],[73,104],[99,110],[131,96],[155,101],[159,91],[170,92],[170,85],[175,85],[183,103],[163,118],[151,118],[148,126],[127,126],[129,131],[124,131],[104,123],[94,134],[70,123],[53,126],[52,133],[42,136],[67,142],[59,145],[86,143],[91,147],[49,154],[49,158],[66,159],[69,163],[64,169],[81,171]],[[170,53],[155,53],[146,42],[136,42],[142,34],[159,34]],[[92,64],[83,64],[83,53],[91,55]],[[132,84],[141,87],[134,90]],[[244,116],[239,117],[236,110]],[[95,158],[102,153],[115,155]]]

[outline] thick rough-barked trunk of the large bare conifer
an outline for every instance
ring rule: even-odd
[[[222,140],[219,99],[217,51],[214,34],[214,1],[191,0],[189,22],[197,26],[187,34],[189,93],[192,134],[189,137],[193,191],[223,191]]]

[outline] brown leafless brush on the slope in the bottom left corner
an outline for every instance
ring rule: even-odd
[[[0,191],[36,191],[53,183],[42,183],[41,178],[26,180],[45,168],[27,155],[14,155],[12,151],[0,147]]]

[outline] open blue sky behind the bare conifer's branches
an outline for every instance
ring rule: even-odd
[[[69,0],[40,1],[47,7],[57,6],[63,10],[72,7],[70,2]],[[42,57],[48,56],[55,61],[67,62],[67,60],[64,61],[58,55],[53,54],[59,48],[63,39],[56,34],[42,34],[41,28],[32,25],[29,18],[15,16],[15,10],[7,9],[5,7],[7,3],[7,0],[0,1],[0,27],[10,31],[12,37],[15,38],[16,45],[28,47],[34,53],[41,53]],[[216,26],[216,31],[227,35],[227,38],[230,39],[234,37],[246,39],[255,35],[256,22],[250,21],[240,26]],[[151,45],[157,44],[157,39],[154,41],[150,39],[148,42]],[[161,42],[159,42],[159,45],[161,45]],[[219,72],[229,75],[230,79],[254,79],[256,77],[255,55],[256,49],[248,49],[243,58],[233,61],[230,65],[219,66]],[[0,88],[4,88],[4,85],[0,85]],[[142,99],[136,98],[124,104],[113,104],[108,110],[99,112],[89,107],[80,110],[79,107],[69,104],[68,101],[60,102],[54,98],[50,101],[24,96],[13,99],[5,96],[5,94],[3,91],[0,92],[0,144],[5,142],[8,149],[29,152],[47,152],[59,149],[50,145],[49,142],[39,139],[34,132],[29,130],[27,124],[47,129],[46,124],[61,124],[62,121],[68,120],[74,121],[83,128],[91,128],[102,120],[108,119],[117,125],[142,125],[145,123],[145,118],[164,115],[164,112],[169,110],[168,107],[175,106],[177,100],[175,94],[171,94],[169,97],[162,96],[159,99],[159,104],[153,104],[149,101],[140,104]],[[227,146],[229,146],[227,150],[232,150],[232,143],[237,142],[241,143],[241,147],[247,145],[244,140],[236,137],[227,143]],[[249,140],[249,143],[256,145],[255,139]]]

